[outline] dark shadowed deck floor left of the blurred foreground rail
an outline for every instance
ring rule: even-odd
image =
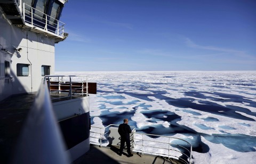
[[[0,161],[9,163],[35,93],[9,97],[0,102]]]

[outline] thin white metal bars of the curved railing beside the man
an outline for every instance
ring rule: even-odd
[[[108,131],[108,128],[110,126],[119,126],[119,125],[116,125],[116,124],[110,124],[106,127],[97,127],[97,126],[91,126],[91,130],[90,130],[90,137],[93,138],[93,139],[98,139],[99,142],[93,142],[92,140],[90,140],[90,143],[91,144],[97,144],[97,145],[100,145],[102,146],[102,140],[105,140],[106,138],[103,137],[102,135],[106,135],[109,131]],[[99,132],[95,132],[93,131],[92,129],[93,128],[97,128],[99,129]],[[103,131],[104,129],[104,131]],[[132,128],[132,131],[135,129],[135,127]],[[103,132],[102,132],[103,131]],[[92,136],[91,134],[98,134],[99,137],[96,137],[96,136]],[[141,139],[138,138],[139,135],[142,135]],[[145,139],[145,135],[150,137],[150,136],[157,136],[157,137],[165,137],[168,139],[168,142],[163,142],[163,141],[156,141],[156,140],[149,140],[149,139]],[[186,163],[186,164],[191,164],[192,162],[192,145],[187,142],[186,140],[183,140],[183,139],[180,139],[178,137],[172,137],[172,136],[164,136],[164,135],[156,135],[156,134],[147,134],[147,133],[137,133],[137,132],[132,132],[131,134],[132,136],[132,140],[131,140],[131,148],[133,149],[132,151],[135,151],[135,152],[141,152],[141,155],[143,155],[143,153],[147,152],[147,153],[150,153],[150,154],[158,154],[160,156],[167,156],[168,158],[172,157],[172,158],[176,158],[178,159],[179,161],[183,162],[183,163]],[[131,137],[130,136],[130,137]],[[135,137],[134,137],[135,136]],[[151,137],[150,137],[151,138]],[[175,144],[175,143],[171,143],[171,139],[172,140],[179,140],[179,141],[182,141],[184,143],[186,143],[189,147],[190,147],[190,150],[187,149],[185,146],[182,146],[180,144]],[[140,142],[142,142],[140,144]],[[150,142],[150,143],[149,143]],[[153,145],[152,145],[153,143]],[[161,147],[158,147],[156,146],[157,144],[168,144],[168,148],[161,148]],[[175,148],[174,146],[172,145],[175,145],[185,151],[180,151],[178,148]],[[142,146],[141,149],[137,150],[139,146]],[[137,148],[137,149],[135,149]],[[157,149],[164,149],[164,150],[168,150],[168,153],[157,153],[157,152],[150,152],[150,151],[146,151],[146,148],[157,148]],[[178,150],[177,150],[178,149]],[[181,156],[185,156],[187,159],[182,159],[181,157],[178,157],[177,155],[175,154],[171,154],[171,152],[177,152],[179,154],[181,154]],[[189,153],[189,156],[187,155],[187,153]]]

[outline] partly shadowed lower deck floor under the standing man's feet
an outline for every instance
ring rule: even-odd
[[[170,160],[161,156],[151,156],[149,154],[135,153],[133,152],[132,157],[127,157],[127,153],[124,151],[122,156],[118,155],[119,148],[116,146],[111,147],[99,147],[98,145],[90,146],[90,150],[83,156],[73,162],[73,164],[82,163],[121,163],[121,164],[160,164],[160,163],[173,163],[178,164],[179,161]]]

